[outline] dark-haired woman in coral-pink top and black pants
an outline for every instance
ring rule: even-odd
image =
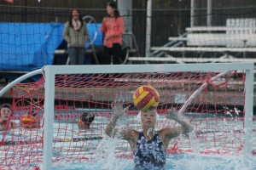
[[[104,56],[102,64],[120,64],[122,34],[125,31],[123,17],[120,17],[117,4],[110,2],[107,5],[108,17],[102,20],[101,31],[104,34]],[[111,60],[111,57],[113,57]]]

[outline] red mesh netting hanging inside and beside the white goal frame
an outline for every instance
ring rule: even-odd
[[[166,111],[191,122],[192,135],[172,139],[167,153],[199,152],[203,154],[237,155],[244,144],[245,72],[153,72],[115,74],[72,74],[55,76],[55,111],[53,161],[55,163],[96,161],[96,152],[102,150],[102,141],[108,142],[105,128],[113,114],[112,103],[119,95],[124,107],[131,105],[117,127],[141,130],[133,105],[132,95],[142,85],[151,85],[160,93],[160,115],[156,129],[177,127],[166,119]],[[213,78],[212,77],[216,77]],[[196,94],[189,105],[189,97]],[[17,84],[11,90],[13,97],[12,121],[20,124],[20,117],[29,111],[40,115],[40,127],[18,127],[3,132],[0,167],[37,167],[42,162],[44,132],[44,77],[38,82]],[[89,129],[78,127],[81,114],[95,115]],[[196,143],[196,144],[195,144]],[[101,153],[101,156],[103,153]],[[115,156],[131,159],[130,145],[119,140]]]

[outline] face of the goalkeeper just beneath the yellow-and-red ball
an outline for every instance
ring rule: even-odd
[[[142,111],[141,119],[145,127],[154,128],[154,125],[156,122],[156,111],[155,110],[148,111],[148,112]]]

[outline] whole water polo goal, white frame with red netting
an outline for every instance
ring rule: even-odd
[[[117,96],[124,107],[130,105],[117,128],[142,129],[132,100],[142,85],[160,93],[156,130],[180,126],[166,119],[167,109],[195,127],[172,139],[168,154],[253,151],[253,64],[46,66],[42,72],[38,82],[17,83],[10,90],[10,121],[20,125],[21,117],[34,111],[40,125],[1,132],[1,168],[99,161],[105,143],[112,142],[105,128]],[[95,116],[88,129],[78,127],[84,112]],[[121,139],[115,144],[114,156],[131,161],[130,145]]]

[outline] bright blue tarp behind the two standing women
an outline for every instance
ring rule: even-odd
[[[86,25],[95,46],[102,46],[100,24]],[[32,71],[52,65],[64,41],[64,23],[0,23],[0,71]],[[85,48],[89,47],[87,42]]]

